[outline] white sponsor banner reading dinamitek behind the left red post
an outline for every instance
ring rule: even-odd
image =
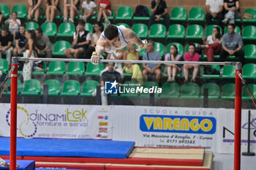
[[[10,104],[0,104],[0,136],[10,136]],[[17,135],[24,138],[112,139],[110,107],[18,104]]]

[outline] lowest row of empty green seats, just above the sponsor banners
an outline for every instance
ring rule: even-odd
[[[80,84],[76,80],[67,80],[62,85],[58,80],[47,80],[44,82],[44,85],[48,85],[48,95],[49,96],[95,96],[95,92],[99,82],[95,80],[87,80],[83,82],[83,85],[80,88]],[[124,82],[125,88],[137,88],[136,82]],[[7,90],[5,94],[10,94],[10,82],[7,85]],[[159,85],[157,82],[144,82],[143,88],[157,87]],[[252,91],[253,95],[256,95],[256,85],[249,84],[248,87]],[[204,90],[208,89],[208,98],[210,99],[234,99],[236,87],[234,83],[227,83],[222,85],[222,90],[220,90],[219,85],[214,82],[208,82],[204,84],[201,88],[196,83],[185,83],[181,87],[176,82],[165,82],[162,85],[162,93],[155,94],[154,97],[157,98],[203,98]],[[20,95],[31,95],[31,96],[41,96],[41,84],[38,80],[27,80],[24,82],[23,88],[21,87],[21,82],[18,81],[18,94]],[[148,93],[121,93],[121,97],[142,97],[148,98]],[[247,93],[246,88],[242,89],[242,98],[244,100],[249,100],[249,94]]]

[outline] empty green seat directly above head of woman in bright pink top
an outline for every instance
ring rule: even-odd
[[[202,39],[203,38],[203,27],[197,24],[190,25],[187,28],[186,39]]]

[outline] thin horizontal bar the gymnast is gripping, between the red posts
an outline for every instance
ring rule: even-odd
[[[75,59],[75,58],[23,58],[18,57],[18,61],[76,61],[90,63],[91,59]],[[199,65],[220,65],[220,66],[235,66],[236,62],[210,62],[210,61],[130,61],[130,60],[101,60],[102,63],[173,63],[173,64],[186,64],[194,63]]]

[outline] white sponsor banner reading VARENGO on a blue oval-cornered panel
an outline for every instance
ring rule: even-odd
[[[113,117],[113,140],[217,150],[217,109],[116,106]]]

